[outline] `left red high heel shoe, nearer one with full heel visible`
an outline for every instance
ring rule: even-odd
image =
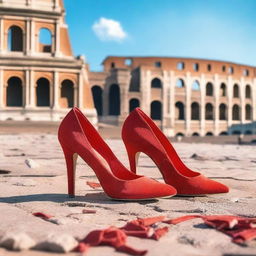
[[[78,108],[63,119],[58,132],[68,172],[68,193],[75,195],[75,167],[79,155],[95,172],[105,193],[118,200],[171,197],[175,188],[128,171]]]

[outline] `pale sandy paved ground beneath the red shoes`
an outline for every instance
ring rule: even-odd
[[[107,140],[119,159],[128,166],[121,140]],[[94,229],[110,225],[123,226],[136,217],[165,215],[174,218],[187,214],[233,214],[256,216],[256,147],[250,145],[210,145],[175,143],[184,162],[208,177],[223,182],[231,190],[228,194],[204,197],[173,197],[149,202],[118,202],[108,199],[101,189],[93,190],[86,181],[97,179],[94,172],[79,159],[77,197],[70,199],[66,191],[66,169],[57,138],[53,134],[1,134],[0,170],[0,236],[6,231],[25,231],[36,241],[49,233],[67,233],[83,238]],[[191,158],[196,153],[203,160]],[[38,165],[29,168],[26,159]],[[141,155],[139,174],[162,180],[153,162]],[[76,203],[76,204],[74,204]],[[96,214],[81,214],[83,209],[95,209]],[[60,225],[46,222],[33,212],[54,215]],[[69,214],[76,213],[75,215]],[[256,255],[256,243],[241,247],[231,239],[209,229],[200,220],[171,226],[159,241],[128,239],[138,249],[148,249],[151,255]],[[29,251],[14,253],[0,248],[4,255],[48,255]],[[55,254],[50,254],[55,255]],[[59,254],[56,254],[59,255]],[[70,253],[69,255],[77,255]],[[87,255],[124,255],[110,247],[96,247]]]

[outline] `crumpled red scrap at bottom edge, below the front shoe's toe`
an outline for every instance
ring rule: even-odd
[[[145,255],[146,250],[137,250],[126,245],[127,236],[124,231],[116,227],[91,231],[75,249],[78,252],[86,251],[90,246],[110,245],[117,251],[131,255]]]

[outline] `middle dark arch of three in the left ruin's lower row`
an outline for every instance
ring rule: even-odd
[[[36,105],[38,107],[50,106],[50,82],[46,78],[40,78],[36,82]]]

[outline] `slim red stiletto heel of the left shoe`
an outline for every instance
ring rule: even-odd
[[[67,165],[68,195],[69,197],[75,197],[76,163],[78,155],[64,147],[62,148]]]

